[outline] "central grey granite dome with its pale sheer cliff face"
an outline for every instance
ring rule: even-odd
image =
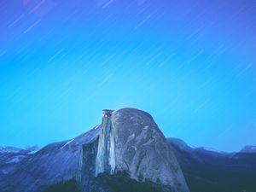
[[[94,177],[125,175],[137,183],[164,186],[165,189],[159,191],[189,191],[172,148],[148,113],[133,108],[104,110],[100,127],[96,155],[84,150],[81,153],[78,180],[83,192],[114,191],[83,189],[93,186],[88,183],[88,177],[82,178],[88,172],[86,165],[93,159],[96,160]],[[90,169],[90,174],[94,170]]]

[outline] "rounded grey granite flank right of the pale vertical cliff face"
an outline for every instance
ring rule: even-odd
[[[150,114],[121,109],[112,116],[116,170],[128,172],[139,182],[146,180],[189,191],[172,149]]]

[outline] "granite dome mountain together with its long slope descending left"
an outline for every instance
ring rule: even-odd
[[[132,108],[113,115],[104,111],[102,124],[91,131],[26,154],[12,172],[3,172],[0,188],[3,192],[40,192],[74,179],[81,191],[88,192],[117,191],[119,183],[141,191],[189,191],[153,118]]]

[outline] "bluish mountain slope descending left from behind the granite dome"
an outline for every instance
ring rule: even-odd
[[[96,140],[99,131],[96,126],[72,140],[51,143],[35,154],[26,154],[12,172],[0,175],[1,192],[40,192],[47,186],[73,179],[82,145]]]

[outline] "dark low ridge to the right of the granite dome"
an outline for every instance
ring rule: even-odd
[[[168,138],[191,192],[256,191],[256,153],[219,153]]]

